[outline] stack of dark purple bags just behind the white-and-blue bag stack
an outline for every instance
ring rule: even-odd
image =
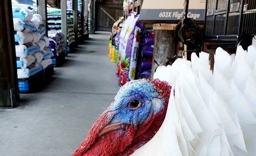
[[[64,35],[56,30],[48,31],[50,39],[50,50],[53,52],[52,63],[55,66],[60,66],[65,60],[66,49],[64,47]]]

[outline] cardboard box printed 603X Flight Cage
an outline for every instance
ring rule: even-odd
[[[143,0],[139,20],[147,24],[178,23],[182,20],[184,0]],[[204,21],[206,0],[189,0],[188,17]]]

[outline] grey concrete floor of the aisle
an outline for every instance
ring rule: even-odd
[[[90,37],[42,91],[0,109],[0,156],[70,156],[80,145],[118,91],[109,33]]]

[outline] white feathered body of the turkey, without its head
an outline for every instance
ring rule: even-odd
[[[248,52],[217,48],[213,71],[208,58],[156,69],[173,86],[166,117],[131,156],[256,156],[256,37]]]

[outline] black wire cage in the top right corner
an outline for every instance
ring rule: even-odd
[[[235,49],[254,35],[256,0],[206,0],[204,41]]]

